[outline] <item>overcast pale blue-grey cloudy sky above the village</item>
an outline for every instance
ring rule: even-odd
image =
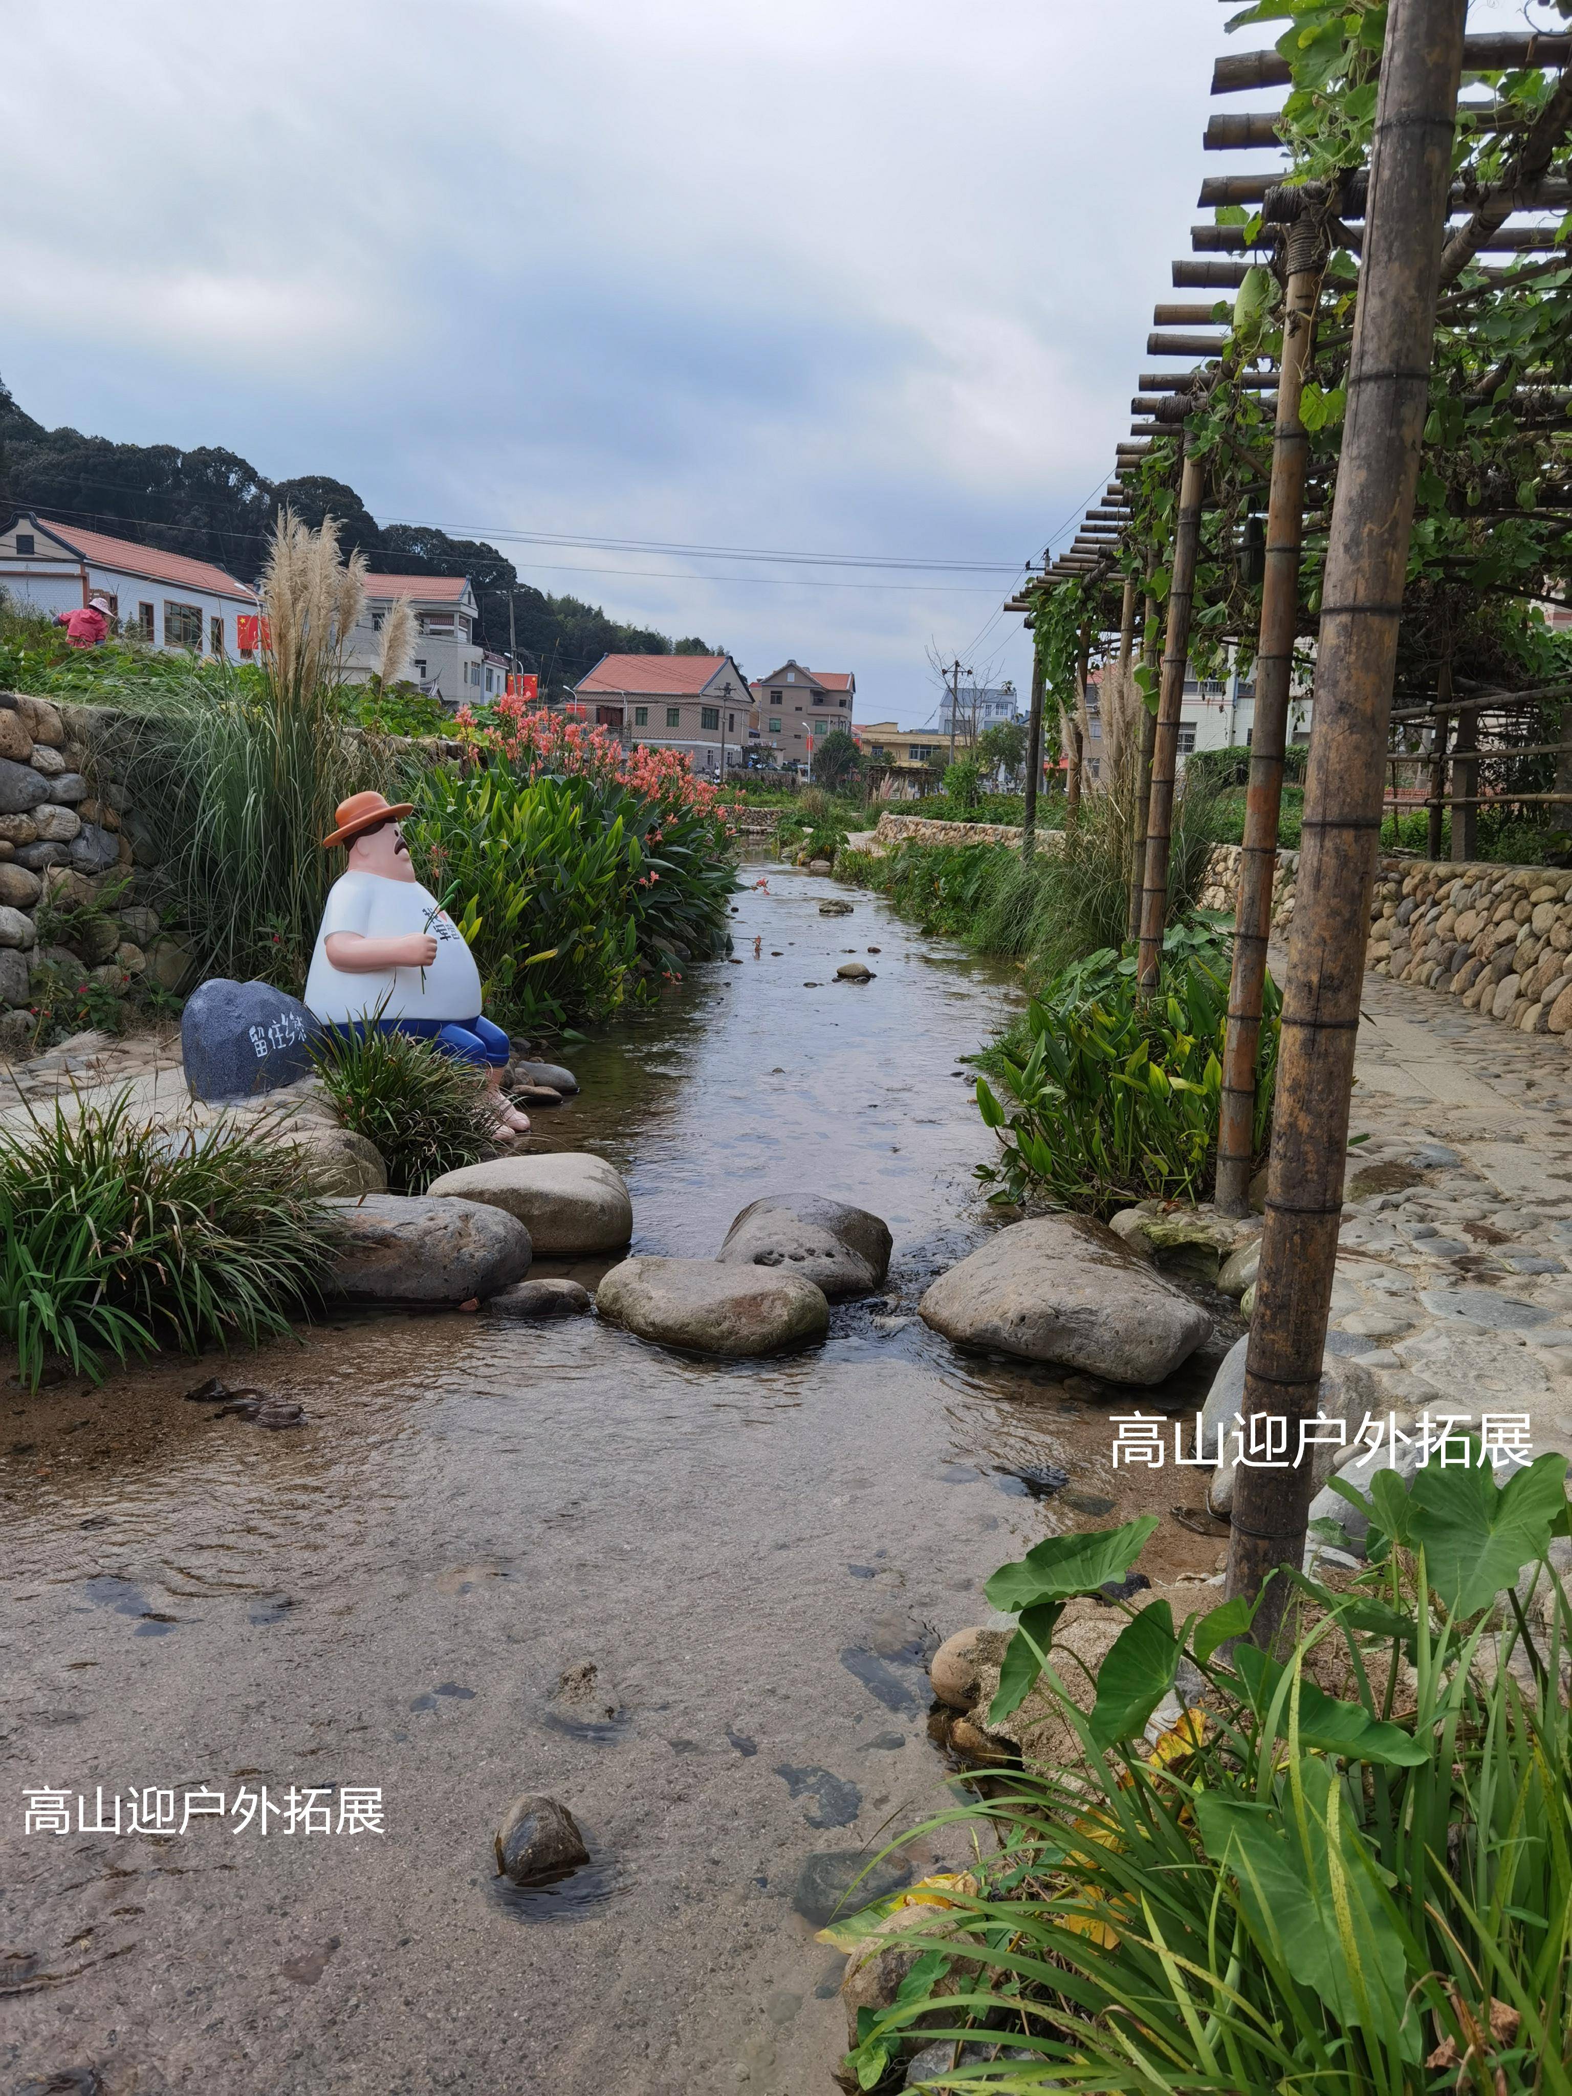
[[[929,643],[1025,687],[1010,568],[1102,486],[1201,176],[1258,163],[1201,153],[1226,17],[13,0],[0,373],[916,725]]]

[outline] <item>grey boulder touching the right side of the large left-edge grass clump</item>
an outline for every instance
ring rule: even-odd
[[[480,1201],[369,1193],[329,1201],[342,1251],[327,1291],[352,1304],[465,1304],[530,1270],[530,1232]]]

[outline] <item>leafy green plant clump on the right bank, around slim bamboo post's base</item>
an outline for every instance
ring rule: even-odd
[[[1272,1132],[1281,998],[1266,981],[1256,1063],[1256,1155]],[[1134,1201],[1201,1201],[1211,1191],[1228,1023],[1228,956],[1216,926],[1167,933],[1163,981],[1136,989],[1134,956],[1092,954],[1027,1006],[1025,1046],[989,1056],[1006,1102],[977,1079],[977,1109],[998,1134],[979,1165],[989,1201],[1042,1197],[1109,1216]]]

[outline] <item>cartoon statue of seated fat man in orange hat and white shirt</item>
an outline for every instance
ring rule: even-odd
[[[497,1098],[497,1136],[511,1142],[528,1119],[503,1096],[507,1035],[480,1014],[480,970],[453,918],[415,878],[402,815],[379,792],[337,805],[325,849],[348,847],[348,872],[327,895],[316,952],[306,977],[306,1008],[325,1027],[379,1027],[413,1033],[438,1054],[488,1071]]]

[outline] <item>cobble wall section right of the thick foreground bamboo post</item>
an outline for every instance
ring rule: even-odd
[[[1522,1033],[1572,1029],[1572,872],[1381,859],[1367,966]]]

